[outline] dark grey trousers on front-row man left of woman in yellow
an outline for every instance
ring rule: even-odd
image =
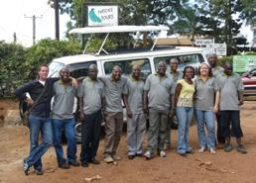
[[[169,110],[149,110],[149,131],[147,150],[154,153],[157,148],[158,151],[164,150],[164,143],[166,140],[168,127]]]

